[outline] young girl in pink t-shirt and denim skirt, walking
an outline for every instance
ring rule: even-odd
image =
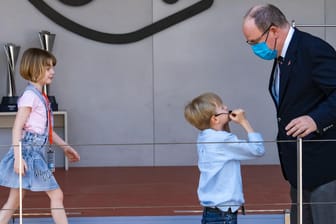
[[[19,206],[19,174],[22,195],[27,190],[45,191],[50,198],[51,214],[56,224],[67,224],[63,192],[45,159],[47,145],[54,142],[64,150],[70,162],[79,161],[79,154],[52,130],[52,113],[42,87],[54,77],[56,58],[48,51],[30,48],[22,56],[21,76],[29,81],[18,101],[12,147],[0,162],[0,185],[10,188],[9,197],[0,211],[0,224],[7,224]],[[20,167],[19,141],[22,142]]]

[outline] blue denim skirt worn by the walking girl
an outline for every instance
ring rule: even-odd
[[[26,132],[22,139],[22,158],[28,169],[22,176],[22,188],[30,191],[49,191],[59,188],[46,162],[46,135]],[[0,185],[19,188],[19,175],[14,171],[14,150],[9,149],[0,162]]]

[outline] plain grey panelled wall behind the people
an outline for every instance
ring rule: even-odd
[[[90,28],[125,33],[198,0],[173,5],[161,0],[99,0],[80,8],[46,2]],[[333,0],[270,2],[297,24],[336,23]],[[0,44],[21,45],[21,57],[28,47],[40,47],[39,31],[56,34],[53,52],[58,63],[50,93],[68,112],[69,143],[82,156],[74,166],[194,165],[197,130],[184,120],[183,108],[205,91],[217,92],[231,108],[244,108],[265,140],[275,139],[275,111],[267,91],[272,62],[254,56],[241,32],[244,13],[256,3],[260,1],[215,0],[209,10],[154,36],[116,45],[67,31],[28,1],[3,0]],[[336,45],[335,28],[302,29]],[[6,68],[0,53],[0,96],[6,93]],[[21,92],[26,81],[18,72],[16,81]],[[231,128],[245,138],[240,127]],[[9,132],[0,130],[0,145],[11,142]],[[266,143],[266,148],[263,158],[248,163],[277,164],[275,144]],[[6,151],[0,148],[0,153]]]

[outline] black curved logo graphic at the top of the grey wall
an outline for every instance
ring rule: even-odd
[[[149,37],[155,33],[158,33],[168,27],[171,27],[177,23],[182,22],[183,20],[189,19],[192,16],[195,16],[208,8],[211,7],[214,0],[201,0],[196,2],[195,4],[182,9],[170,16],[167,16],[157,22],[154,22],[148,26],[145,26],[141,29],[129,32],[129,33],[122,33],[122,34],[113,34],[113,33],[105,33],[100,32],[97,30],[90,29],[83,25],[80,25],[67,17],[61,15],[59,12],[55,11],[51,8],[47,3],[43,0],[29,0],[31,4],[35,6],[41,13],[47,16],[49,19],[54,21],[56,24],[62,26],[63,28],[76,33],[82,37],[99,41],[103,43],[109,44],[126,44],[132,43],[139,40],[142,40],[146,37]],[[71,1],[62,1],[64,4],[70,5]],[[76,2],[76,1],[75,1]],[[77,1],[77,6],[89,3],[91,1]],[[174,4],[177,0],[164,0],[164,2],[168,4]],[[76,6],[76,3],[72,2],[72,6]]]

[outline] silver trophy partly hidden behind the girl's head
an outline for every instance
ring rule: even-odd
[[[54,47],[56,34],[50,33],[49,31],[42,30],[39,32],[39,38],[41,47],[43,50],[51,52]],[[43,86],[43,92],[48,96],[49,101],[51,103],[51,108],[54,111],[58,110],[58,105],[56,103],[56,98],[54,96],[49,96],[49,85]]]

